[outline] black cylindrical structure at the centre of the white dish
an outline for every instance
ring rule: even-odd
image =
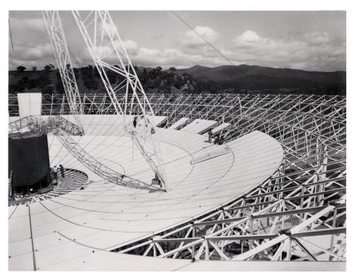
[[[15,192],[47,187],[50,183],[47,135],[9,136],[8,176],[11,170]]]

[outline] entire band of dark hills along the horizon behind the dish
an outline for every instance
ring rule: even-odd
[[[64,93],[59,71],[53,67],[40,71],[8,71],[9,92]],[[346,71],[302,71],[249,65],[196,65],[188,69],[171,67],[166,70],[159,66],[135,66],[135,69],[147,92],[346,94]],[[74,69],[74,72],[80,93],[105,92],[94,66]],[[113,86],[122,82],[118,74],[110,70],[107,73]]]

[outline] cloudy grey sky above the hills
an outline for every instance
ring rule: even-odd
[[[346,71],[345,11],[110,11],[133,64],[259,65]],[[81,12],[81,14],[86,14]],[[93,65],[70,11],[60,11],[74,66]],[[10,11],[8,67],[55,64],[40,11]],[[202,35],[219,52],[207,45]],[[116,64],[112,54],[110,63]]]

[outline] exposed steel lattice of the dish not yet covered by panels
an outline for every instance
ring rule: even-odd
[[[181,117],[229,122],[227,141],[259,130],[284,149],[268,180],[176,228],[118,247],[120,253],[189,259],[346,260],[346,98],[314,95],[149,94],[163,127]],[[82,96],[85,114],[114,114],[104,94]],[[9,112],[18,115],[10,95]],[[138,106],[135,104],[134,106]],[[61,95],[42,112],[69,114]],[[311,237],[316,236],[321,243]]]

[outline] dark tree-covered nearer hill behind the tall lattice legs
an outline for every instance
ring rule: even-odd
[[[119,68],[117,65],[115,65],[115,67]],[[134,68],[145,91],[158,93],[200,93],[205,91],[215,93],[220,89],[214,82],[196,81],[190,74],[178,73],[177,69],[174,67],[166,70],[163,70],[161,66],[154,68],[134,66]],[[28,71],[25,70],[25,66],[18,66],[16,71],[10,71],[8,83],[10,93],[30,90],[38,90],[42,93],[64,93],[64,86],[59,70],[55,69],[53,64],[45,65],[42,70],[38,70],[36,66],[32,66]],[[119,88],[120,84],[124,84],[125,77],[115,71],[105,69],[105,73],[113,86]],[[81,68],[74,68],[74,75],[80,92],[105,91],[96,66],[88,65]],[[125,88],[122,88],[122,92],[124,91]]]

